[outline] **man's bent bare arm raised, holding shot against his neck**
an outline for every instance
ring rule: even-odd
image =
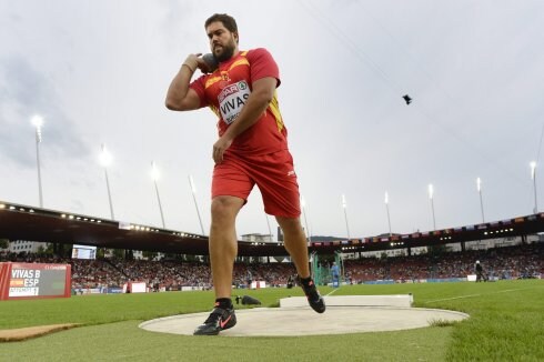
[[[200,54],[190,54],[170,83],[165,105],[171,111],[190,111],[200,107],[200,98],[189,88],[194,71],[200,68]]]

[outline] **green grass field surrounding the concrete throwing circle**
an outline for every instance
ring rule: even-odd
[[[331,291],[321,288],[322,294]],[[240,291],[263,305],[302,295]],[[544,361],[544,281],[342,286],[342,294],[413,293],[415,306],[470,319],[424,329],[331,336],[188,336],[140,330],[144,320],[208,311],[211,292],[72,296],[0,302],[0,330],[82,323],[23,342],[0,343],[0,361]]]

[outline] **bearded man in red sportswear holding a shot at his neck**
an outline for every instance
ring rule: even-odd
[[[170,110],[210,107],[219,118],[219,139],[212,152],[215,165],[209,244],[215,305],[194,334],[214,335],[236,324],[231,301],[238,253],[235,219],[255,184],[261,190],[264,211],[274,215],[282,228],[285,249],[310,306],[323,313],[323,298],[310,276],[299,184],[276,99],[278,64],[265,49],[239,50],[239,32],[232,17],[213,14],[204,28],[218,64],[200,54],[189,54],[167,94]],[[191,82],[197,69],[204,74]]]

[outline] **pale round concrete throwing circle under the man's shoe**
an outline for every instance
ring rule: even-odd
[[[139,326],[151,332],[192,335],[209,312],[160,318]],[[328,306],[323,314],[310,308],[236,310],[238,323],[222,331],[228,336],[288,336],[399,331],[453,322],[469,314],[422,308]]]

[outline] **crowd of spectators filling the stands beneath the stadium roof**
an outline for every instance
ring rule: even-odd
[[[345,260],[344,276],[350,283],[465,278],[467,274],[474,274],[476,260],[480,260],[485,273],[491,278],[540,278],[544,275],[544,243],[455,253]],[[143,281],[155,290],[181,290],[182,286],[212,288],[209,264],[201,262],[80,260],[7,252],[0,252],[0,261],[71,264],[74,289],[121,286],[128,281]],[[321,267],[328,269],[330,265],[324,262]],[[265,281],[268,285],[280,286],[285,285],[295,273],[292,263],[235,263],[233,283],[236,286],[245,286],[251,280],[259,280]]]

